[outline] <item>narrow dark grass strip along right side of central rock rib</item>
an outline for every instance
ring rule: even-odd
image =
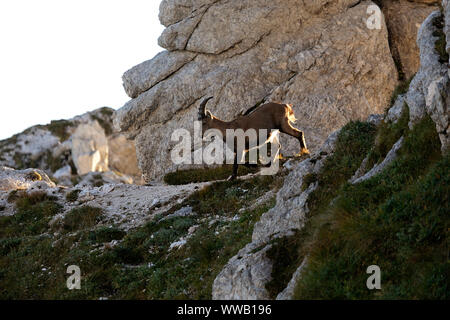
[[[359,167],[373,145],[375,131],[372,124],[349,122],[339,133],[336,141],[337,151],[325,161],[320,174],[309,174],[304,177],[303,185],[300,186],[302,190],[313,182],[318,182],[318,187],[309,196],[310,212],[305,227],[293,236],[275,240],[267,252],[267,257],[273,263],[272,280],[266,284],[271,298],[276,298],[287,286],[292,274],[309,251],[311,242],[316,237],[316,230],[328,223],[327,204]]]

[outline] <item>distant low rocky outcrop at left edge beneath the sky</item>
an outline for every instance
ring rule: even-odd
[[[116,171],[109,176],[120,175],[120,179],[112,177],[114,181],[142,183],[134,142],[112,132],[113,112],[99,108],[0,141],[0,165],[40,168],[65,186],[81,175],[109,169]]]

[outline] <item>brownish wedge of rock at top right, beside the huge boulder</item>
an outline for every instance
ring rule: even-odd
[[[421,2],[421,3],[418,3]],[[434,1],[383,1],[383,14],[391,40],[392,54],[401,64],[405,78],[411,78],[420,66],[417,32],[428,15],[438,7]]]

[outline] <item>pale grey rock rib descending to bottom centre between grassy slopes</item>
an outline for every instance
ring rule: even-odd
[[[255,224],[252,242],[231,258],[217,275],[212,288],[213,299],[270,298],[265,284],[271,280],[272,262],[266,252],[271,248],[274,238],[289,236],[292,231],[303,227],[308,212],[308,196],[317,187],[317,183],[312,183],[302,190],[303,178],[320,171],[324,160],[334,150],[337,136],[338,132],[331,134],[319,152],[310,159],[288,165],[291,172],[277,193],[275,206]],[[287,289],[280,297],[287,299],[291,289]]]

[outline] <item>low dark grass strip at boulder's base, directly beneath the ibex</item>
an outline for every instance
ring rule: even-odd
[[[164,182],[170,185],[180,185],[213,180],[224,180],[231,176],[232,167],[232,165],[223,165],[216,168],[179,170],[166,174],[164,176]],[[240,165],[238,168],[238,176],[256,173],[258,170],[259,168],[256,166],[245,167]]]

